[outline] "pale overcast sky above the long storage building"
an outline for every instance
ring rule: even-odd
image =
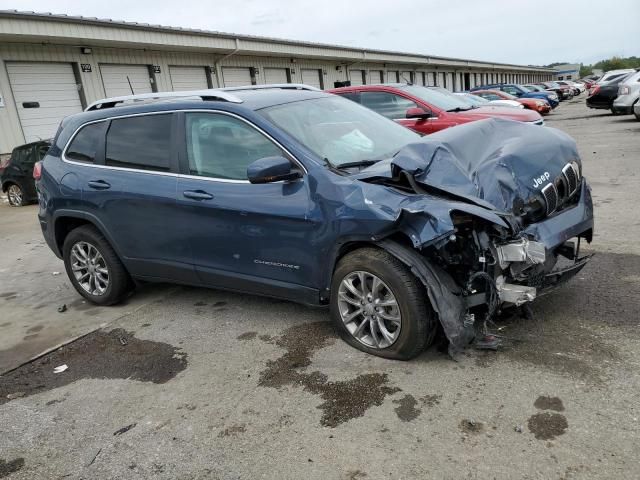
[[[0,0],[14,9],[521,65],[640,56],[640,0]]]

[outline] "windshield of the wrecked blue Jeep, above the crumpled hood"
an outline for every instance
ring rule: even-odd
[[[408,128],[337,96],[276,105],[258,113],[338,167],[389,158],[420,139]]]

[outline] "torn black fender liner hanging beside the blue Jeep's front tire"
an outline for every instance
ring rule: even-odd
[[[449,352],[462,350],[475,338],[472,325],[465,325],[467,303],[462,289],[441,268],[430,264],[415,250],[391,240],[376,242],[391,255],[407,265],[427,289],[431,306],[440,319],[444,333],[449,339]]]

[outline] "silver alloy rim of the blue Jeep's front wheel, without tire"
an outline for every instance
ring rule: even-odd
[[[343,278],[338,308],[349,333],[367,347],[387,348],[400,335],[398,302],[391,288],[372,273],[357,271]]]

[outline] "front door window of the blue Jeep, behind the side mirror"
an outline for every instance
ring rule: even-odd
[[[247,180],[247,167],[282,150],[251,125],[217,113],[185,114],[191,175]]]

